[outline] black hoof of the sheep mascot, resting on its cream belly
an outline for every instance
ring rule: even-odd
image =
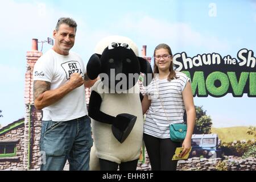
[[[136,119],[137,117],[131,114],[123,113],[117,115],[115,122],[112,125],[112,133],[120,143],[123,143],[129,136]]]

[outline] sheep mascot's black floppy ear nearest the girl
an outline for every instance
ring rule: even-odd
[[[152,81],[153,71],[150,63],[148,63],[146,59],[142,57],[138,57],[138,59],[139,59],[139,64],[141,65],[141,72],[145,74],[143,85],[147,86]]]

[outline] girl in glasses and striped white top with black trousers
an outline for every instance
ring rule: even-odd
[[[142,101],[144,123],[144,143],[152,170],[176,170],[177,160],[172,161],[179,142],[170,139],[170,123],[183,123],[187,113],[187,134],[182,143],[184,156],[191,148],[191,137],[196,120],[193,94],[189,78],[174,71],[171,48],[159,44],[154,51],[154,79],[146,88]]]

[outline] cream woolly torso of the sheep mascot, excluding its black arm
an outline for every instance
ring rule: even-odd
[[[97,92],[98,80],[91,91]],[[133,89],[133,88],[131,88]],[[138,84],[135,85],[137,93]],[[143,137],[143,115],[139,94],[100,94],[102,98],[101,111],[116,116],[121,113],[129,113],[137,116],[137,120],[129,136],[123,143],[118,142],[112,133],[112,126],[92,119],[92,131],[96,155],[98,158],[115,163],[127,162],[139,158]]]

